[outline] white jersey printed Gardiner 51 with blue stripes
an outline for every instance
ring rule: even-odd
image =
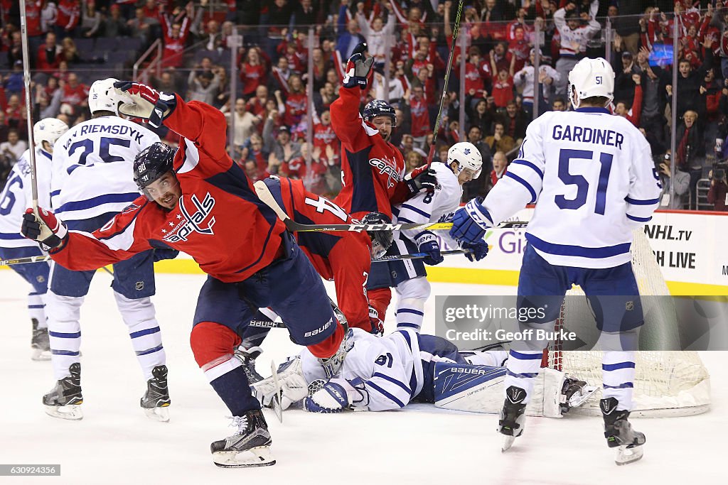
[[[536,202],[526,239],[547,262],[613,268],[630,261],[632,229],[652,219],[660,190],[649,144],[633,124],[579,108],[529,124],[483,207],[498,224]]]

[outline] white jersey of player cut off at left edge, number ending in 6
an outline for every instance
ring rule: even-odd
[[[25,209],[31,207],[31,153],[26,150],[7,177],[5,188],[0,193],[0,247],[38,246],[36,241],[25,239],[20,234]],[[50,153],[36,148],[36,176],[38,183],[38,205],[50,207]]]

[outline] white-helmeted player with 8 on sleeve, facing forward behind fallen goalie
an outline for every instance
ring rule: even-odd
[[[462,185],[480,176],[483,158],[475,145],[460,142],[448,150],[447,163],[434,162],[430,168],[435,171],[438,185],[432,193],[420,192],[403,204],[392,207],[392,215],[396,223],[442,223],[451,220],[462,198]],[[466,257],[478,261],[488,254],[485,241],[462,243],[451,239],[446,233],[444,237],[448,246],[469,249]],[[426,253],[422,260],[396,260],[380,262],[372,265],[367,289],[369,302],[373,308],[384,316],[391,292],[397,292],[397,329],[422,328],[424,303],[430,297],[430,283],[424,265],[437,265],[443,261],[440,254],[440,242],[432,231],[401,231],[390,246],[387,254],[408,254],[410,252]],[[424,263],[424,264],[423,264]],[[387,289],[387,293],[381,289]],[[379,290],[379,291],[374,291]]]

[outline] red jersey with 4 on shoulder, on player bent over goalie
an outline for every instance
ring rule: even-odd
[[[301,224],[354,223],[344,209],[323,196],[306,191],[301,180],[270,177],[265,180],[274,198],[288,217]],[[371,268],[371,240],[366,233],[295,233],[317,273],[334,281],[336,302],[349,326],[371,329],[366,282]]]

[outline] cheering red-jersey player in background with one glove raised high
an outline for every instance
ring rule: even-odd
[[[405,201],[422,188],[434,190],[435,177],[425,170],[405,182],[405,162],[389,143],[396,127],[395,110],[384,100],[373,100],[359,114],[359,95],[368,84],[373,57],[366,44],[354,49],[339,88],[339,99],[331,104],[331,121],[341,140],[341,181],[334,202],[360,219],[369,212],[392,217],[392,204]]]

